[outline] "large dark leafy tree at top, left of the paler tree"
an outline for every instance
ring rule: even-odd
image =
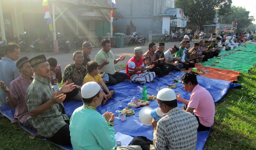
[[[230,10],[232,0],[176,0],[176,8],[182,8],[190,22],[200,26],[212,22],[216,11],[224,15]]]

